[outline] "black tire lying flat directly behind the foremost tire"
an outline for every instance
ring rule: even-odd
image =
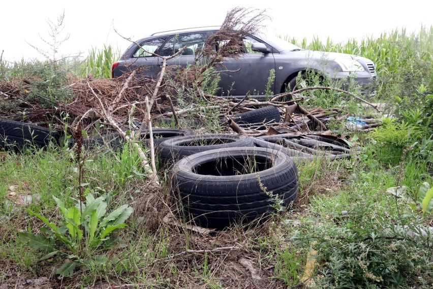
[[[166,165],[192,154],[234,147],[254,147],[254,143],[250,137],[239,134],[210,133],[173,137],[159,143],[157,154],[160,164]]]

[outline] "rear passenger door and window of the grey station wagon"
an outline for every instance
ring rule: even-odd
[[[176,65],[180,67],[192,65],[194,64],[197,49],[204,45],[206,35],[206,32],[172,35],[159,50],[159,54],[161,56],[171,56],[178,52],[182,47],[185,47],[181,54],[167,60],[167,65]],[[158,71],[161,70],[162,63],[163,60],[161,58],[158,59]]]

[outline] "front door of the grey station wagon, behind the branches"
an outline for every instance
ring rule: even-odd
[[[227,58],[217,67],[217,70],[221,71],[219,95],[244,96],[247,93],[265,95],[269,73],[271,69],[275,69],[272,47],[253,37],[245,37],[243,42],[245,53],[241,57]],[[270,53],[253,51],[251,49],[253,43],[265,44]],[[272,81],[270,84],[269,89],[273,93],[275,83]]]

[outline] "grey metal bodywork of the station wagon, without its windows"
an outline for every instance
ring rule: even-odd
[[[187,30],[156,33],[150,37],[142,38],[136,43],[141,45],[147,43],[147,41],[161,43],[164,40],[164,43],[158,48],[152,47],[156,49],[154,53],[165,53],[163,51],[166,49],[165,47],[169,43],[171,45],[170,41],[175,39],[171,53],[173,54],[180,48],[180,44],[177,45],[176,42],[177,38],[181,39],[183,37],[194,41],[194,37],[189,37],[190,35],[201,33],[207,37],[216,31],[218,31],[218,27],[189,28]],[[269,53],[243,53],[237,59],[227,58],[223,63],[215,67],[216,70],[222,71],[219,83],[221,89],[218,95],[243,97],[246,93],[250,93],[252,96],[263,96],[271,69],[275,69],[275,81],[271,83],[270,88],[274,94],[284,92],[287,84],[292,79],[307,70],[315,71],[321,76],[339,83],[342,88],[346,88],[349,79],[353,79],[361,86],[361,93],[365,93],[366,87],[376,78],[374,63],[365,57],[345,53],[303,50],[282,39],[264,38],[260,34],[250,36],[249,41],[265,44]],[[263,47],[263,45],[259,46]],[[194,48],[193,46],[190,47]],[[146,67],[146,69],[140,71],[140,75],[157,77],[161,70],[162,59],[153,55],[134,57],[134,53],[137,55],[137,48],[138,46],[133,43],[123,53],[119,64],[113,68],[113,77],[118,77],[127,71],[142,67]],[[185,51],[182,53],[185,53]],[[191,54],[191,51],[185,54],[188,55],[178,55],[168,60],[167,65],[186,67],[193,64],[195,60],[194,54]],[[363,71],[343,71],[340,61],[350,62],[350,60],[356,61],[357,65],[359,63]],[[238,69],[237,72],[229,72]]]

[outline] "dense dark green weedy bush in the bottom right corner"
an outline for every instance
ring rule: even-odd
[[[293,240],[305,248],[316,241],[313,247],[320,263],[316,287],[432,286],[433,235],[418,234],[422,225],[405,218],[401,221],[410,225],[393,225],[373,208],[353,209],[336,224],[317,226],[307,234],[297,232]]]

